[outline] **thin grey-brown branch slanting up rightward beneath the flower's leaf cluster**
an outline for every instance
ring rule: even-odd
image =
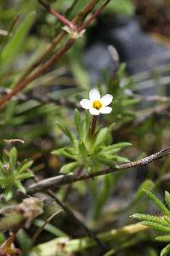
[[[123,169],[129,169],[129,168],[132,168],[135,166],[148,165],[148,164],[150,164],[150,162],[158,160],[160,158],[163,158],[169,154],[170,154],[170,147],[164,148],[161,151],[158,151],[155,154],[151,154],[147,157],[144,157],[141,160],[132,161],[127,164],[116,166],[114,169],[108,168],[108,169],[101,170],[99,172],[86,173],[79,177],[77,177],[77,175],[75,175],[75,174],[67,174],[67,175],[59,175],[56,177],[49,177],[47,179],[43,179],[42,181],[39,181],[38,183],[31,184],[27,188],[27,192],[34,193],[36,191],[41,191],[43,189],[48,189],[48,188],[52,188],[52,187],[56,188],[58,186],[62,186],[62,185],[70,184],[70,183],[76,183],[78,181],[86,180],[86,179],[93,178],[93,177],[98,177],[101,175],[105,175],[107,173],[119,172]]]

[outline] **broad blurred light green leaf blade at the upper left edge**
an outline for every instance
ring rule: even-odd
[[[9,39],[8,44],[3,48],[0,58],[1,64],[3,63],[3,65],[1,65],[2,68],[14,61],[14,57],[20,52],[21,45],[35,20],[35,17],[36,12],[31,12],[27,15],[26,19],[22,21],[16,32],[14,32],[12,38]]]

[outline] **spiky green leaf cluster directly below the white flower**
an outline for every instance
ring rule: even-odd
[[[130,143],[111,144],[111,131],[113,125],[101,128],[96,132],[95,137],[89,136],[90,119],[86,113],[82,119],[81,114],[76,109],[75,124],[77,127],[77,137],[65,125],[59,128],[69,138],[71,145],[59,148],[52,153],[74,160],[62,167],[63,173],[73,172],[77,166],[84,166],[88,172],[96,172],[102,165],[115,167],[118,163],[126,163],[128,160],[117,153],[122,148],[128,147]]]

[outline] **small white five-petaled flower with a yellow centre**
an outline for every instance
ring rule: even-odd
[[[99,113],[111,113],[112,108],[107,107],[111,104],[113,96],[106,94],[100,97],[99,90],[93,89],[89,92],[89,100],[82,99],[80,105],[82,108],[88,109],[91,114],[99,115]]]

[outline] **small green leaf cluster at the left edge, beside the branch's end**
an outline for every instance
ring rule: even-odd
[[[32,172],[28,170],[32,161],[24,160],[19,163],[17,156],[17,149],[11,148],[8,154],[4,154],[0,160],[0,185],[4,190],[6,201],[13,197],[14,188],[26,193],[21,181],[33,176]]]

